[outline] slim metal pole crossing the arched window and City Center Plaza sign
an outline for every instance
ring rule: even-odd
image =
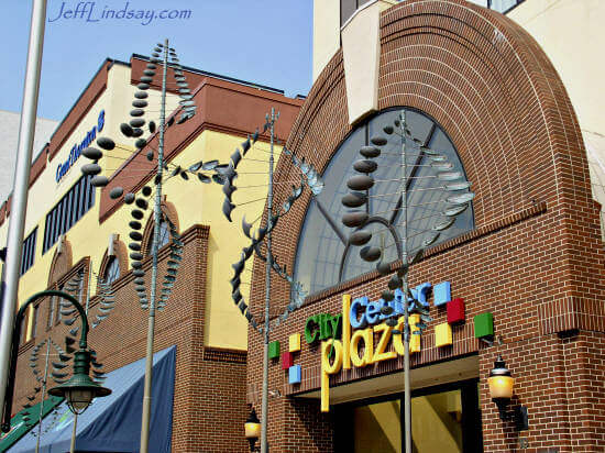
[[[402,168],[404,172],[404,188],[402,190],[402,211],[404,214],[403,224],[403,262],[407,264],[407,162],[406,162],[406,137],[404,133],[406,123],[406,113],[402,111],[400,128],[402,128]],[[411,453],[411,399],[410,399],[410,383],[409,383],[409,313],[408,313],[408,283],[407,270],[404,273],[404,429],[405,429],[405,453]]]

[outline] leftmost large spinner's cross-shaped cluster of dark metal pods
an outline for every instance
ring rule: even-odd
[[[166,307],[168,297],[176,280],[176,275],[182,261],[184,244],[180,241],[180,235],[178,234],[178,231],[176,230],[174,223],[169,220],[168,216],[161,211],[160,203],[162,185],[165,184],[168,179],[176,176],[180,176],[183,180],[197,179],[202,184],[210,184],[215,181],[216,184],[222,185],[224,181],[224,173],[228,169],[227,164],[220,164],[218,161],[199,161],[191,164],[187,168],[182,168],[180,166],[174,164],[167,164],[164,161],[164,131],[168,128],[174,126],[175,124],[183,124],[185,121],[193,118],[196,113],[197,106],[195,104],[194,96],[191,95],[186,76],[183,71],[183,67],[178,63],[179,60],[174,48],[168,47],[166,43],[157,44],[157,46],[154,47],[153,51],[154,52],[152,53],[150,63],[143,70],[143,76],[140,78],[140,82],[136,85],[139,90],[134,92],[134,100],[132,101],[132,107],[134,109],[130,111],[131,120],[128,123],[124,122],[120,124],[120,131],[127,139],[134,140],[134,147],[136,148],[135,153],[140,153],[143,148],[147,147],[150,148],[150,151],[146,154],[146,158],[150,162],[157,159],[157,167],[153,170],[153,173],[155,174],[153,178],[154,189],[152,189],[151,186],[144,186],[141,190],[142,196],[139,197],[136,197],[132,192],[124,194],[124,189],[122,187],[114,187],[109,194],[111,199],[116,200],[123,198],[124,203],[134,205],[133,209],[131,210],[132,220],[129,222],[129,226],[131,228],[129,237],[131,241],[129,242],[128,247],[131,251],[131,265],[134,268],[133,274],[135,278],[133,279],[133,285],[139,296],[140,306],[143,310],[150,309],[150,299],[154,298],[151,297],[151,295],[150,297],[147,296],[147,292],[150,291],[145,284],[145,270],[143,269],[142,265],[144,256],[141,244],[143,241],[143,234],[141,232],[143,224],[141,220],[145,218],[145,211],[147,210],[147,208],[150,208],[150,206],[153,206],[154,214],[156,217],[156,225],[160,226],[162,222],[166,222],[169,225],[169,234],[172,239],[170,259],[168,261],[168,268],[163,278],[162,294],[160,298],[157,298],[157,303],[155,306],[157,310],[163,310]],[[162,58],[160,57],[161,54]],[[170,62],[168,62],[168,59]],[[157,65],[162,65],[164,67],[163,77],[160,81],[155,80],[154,78],[156,76]],[[172,82],[167,79],[168,68],[172,69],[172,77],[174,78],[174,81]],[[154,85],[154,81],[157,82],[157,85],[160,85],[162,89],[160,106],[150,106],[151,100],[148,89],[152,85]],[[168,86],[178,92],[180,101],[178,102],[179,114],[174,114],[166,121],[166,91],[168,89]],[[150,107],[160,110],[161,115],[160,119],[157,119],[157,121],[160,122],[160,126],[156,125],[156,119],[150,119],[147,123],[146,120],[143,118],[145,115],[145,108]],[[176,117],[178,117],[178,119],[175,121]],[[150,136],[147,139],[142,137],[145,133],[143,129],[145,124],[147,124],[150,133]],[[160,137],[158,150],[154,150],[151,146],[151,139],[154,137],[156,133]],[[105,152],[110,152],[119,147],[113,140],[107,136],[99,137],[97,140],[97,145]],[[130,152],[127,148],[123,150]],[[105,187],[109,183],[109,179],[106,176],[100,175],[102,168],[99,165],[99,159],[103,157],[103,151],[96,147],[87,147],[82,151],[85,157],[92,161],[92,163],[82,166],[81,170],[85,175],[95,175],[91,180],[91,184],[95,187]],[[111,157],[116,158],[116,156]],[[165,176],[164,172],[169,173],[168,176]],[[191,177],[189,175],[191,175]],[[153,195],[155,195],[155,203],[151,203],[148,201],[148,199]],[[152,241],[152,255],[156,254],[157,252],[155,236],[156,232],[154,231]],[[152,265],[152,288],[155,287],[156,277],[154,277],[154,273],[156,273],[156,269],[157,263],[154,258],[154,263]],[[102,290],[102,283],[100,284],[100,287]],[[106,318],[108,311],[111,310],[111,303],[106,303],[105,307],[100,309],[101,314],[97,317],[97,320],[95,322],[92,322],[92,328],[98,325],[98,323]]]

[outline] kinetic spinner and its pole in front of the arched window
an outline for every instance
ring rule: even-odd
[[[387,283],[387,289],[382,298],[389,302],[395,298],[395,290],[403,291],[404,329],[394,330],[394,334],[404,335],[404,368],[405,368],[405,445],[406,452],[411,452],[411,409],[409,383],[409,314],[418,313],[420,322],[416,323],[415,334],[421,334],[427,328],[430,317],[428,307],[424,307],[411,295],[408,288],[409,267],[422,258],[424,251],[433,245],[442,232],[450,229],[458,216],[469,209],[474,194],[470,191],[471,183],[463,172],[457,170],[449,162],[448,155],[429,146],[428,140],[414,136],[406,121],[406,111],[402,110],[393,123],[383,124],[383,133],[371,137],[371,145],[360,148],[360,159],[354,162],[355,175],[349,178],[346,186],[350,192],[342,197],[342,205],[349,211],[342,216],[342,223],[352,229],[349,244],[359,246],[360,256],[365,262],[376,263],[377,272],[387,276],[393,274]],[[430,136],[431,134],[429,134]],[[381,155],[388,145],[388,154],[399,153],[399,172],[388,179],[375,178],[373,175],[381,168]],[[393,148],[395,147],[395,152]],[[389,164],[391,166],[393,164]],[[420,172],[420,169],[422,172]],[[398,236],[394,244],[372,242],[376,231],[370,230],[369,202],[371,199],[386,198],[394,194],[381,190],[384,183],[395,183],[398,196],[394,211],[399,214]],[[371,191],[372,189],[372,191]],[[389,191],[389,190],[386,190]],[[391,190],[392,191],[392,190]],[[415,216],[410,216],[415,213]],[[421,212],[420,216],[417,213]],[[384,251],[396,246],[399,261],[388,262]],[[398,320],[391,303],[383,306],[382,314],[387,316],[386,324],[395,328]]]

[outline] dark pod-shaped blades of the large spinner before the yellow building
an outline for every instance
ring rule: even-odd
[[[230,183],[235,177],[235,174],[230,174],[227,168],[228,164],[220,164],[219,161],[198,161],[190,165],[174,165],[168,164],[164,157],[162,158],[162,164],[160,163],[160,155],[162,152],[163,155],[163,144],[161,137],[164,136],[164,133],[170,128],[175,128],[176,124],[183,124],[184,122],[194,118],[197,112],[196,100],[187,82],[187,77],[183,70],[183,67],[179,64],[179,59],[174,49],[168,48],[164,45],[158,45],[154,47],[157,52],[152,53],[153,56],[150,58],[150,63],[146,65],[146,68],[143,70],[143,75],[139,79],[136,85],[138,91],[134,92],[134,99],[132,101],[133,109],[130,111],[130,120],[120,125],[120,131],[124,139],[133,140],[136,151],[135,154],[144,153],[143,155],[150,162],[156,162],[156,168],[151,169],[150,178],[153,179],[155,186],[156,196],[161,194],[162,184],[167,181],[170,178],[179,176],[180,180],[186,183],[197,180],[201,184],[210,184],[215,181],[216,184],[222,185],[224,180]],[[158,66],[161,70],[157,70]],[[170,106],[175,108],[172,113],[168,113],[166,118],[166,99],[162,98],[160,107],[151,106],[152,99],[150,98],[148,90],[153,87],[162,88],[163,92],[166,89],[172,88],[178,92],[180,100],[177,104]],[[161,111],[161,118],[150,119],[145,117],[145,109],[153,109],[150,111]],[[148,125],[148,133],[146,137],[143,137],[145,133],[145,124]],[[175,131],[175,133],[177,133]],[[155,140],[157,139],[160,143],[160,148],[155,148]],[[102,136],[97,140],[97,146],[103,151],[112,151],[116,148],[123,150],[130,153],[130,150],[120,147],[116,142],[109,137]],[[103,187],[109,184],[106,176],[100,175],[102,172],[99,161],[103,157],[103,151],[97,147],[88,147],[82,154],[91,161],[91,164],[88,164],[86,167],[87,174],[96,175],[92,180],[92,185],[96,187]],[[114,156],[111,156],[114,157]],[[128,158],[128,156],[124,156]],[[238,155],[234,153],[232,159],[238,162]],[[157,161],[156,161],[157,159]],[[173,167],[170,169],[170,166]],[[164,173],[166,172],[166,173]],[[197,177],[194,177],[197,176]],[[95,179],[97,178],[97,179]],[[151,187],[145,186],[142,189],[142,195],[145,198],[150,198],[154,191]],[[133,267],[133,274],[135,278],[135,290],[139,296],[139,302],[142,309],[148,309],[150,299],[147,298],[147,290],[145,287],[145,270],[143,269],[143,258],[144,251],[142,251],[142,240],[143,234],[141,233],[141,220],[145,217],[150,203],[145,198],[136,197],[132,192],[127,192],[123,187],[117,186],[112,187],[109,194],[111,199],[123,200],[127,205],[135,205],[135,209],[131,211],[132,221],[129,223],[131,226],[130,239],[132,242],[129,243],[129,248],[131,251],[130,257],[132,259],[131,265]],[[158,205],[158,198],[156,197],[155,203]],[[229,209],[227,210],[227,212]],[[166,220],[167,217],[164,217]],[[178,237],[176,229],[170,228],[170,236],[173,237],[173,244],[175,244],[174,239]],[[180,253],[180,250],[175,253]],[[178,265],[168,266],[168,273],[164,278],[164,285],[162,289],[161,298],[157,300],[157,308],[163,309],[166,305],[167,298],[172,290],[172,285],[174,285],[174,277]],[[169,284],[169,285],[167,285]],[[103,297],[103,295],[101,295]],[[106,301],[108,298],[105,298]],[[107,318],[107,314],[112,309],[111,303],[101,303],[99,308],[99,314],[94,322],[91,322],[91,328],[97,328],[101,321]]]

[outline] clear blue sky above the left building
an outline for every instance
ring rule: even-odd
[[[21,110],[31,3],[0,2],[2,110]],[[68,11],[78,3],[74,16]],[[106,19],[110,10],[132,10],[133,18]],[[188,10],[190,16],[150,22],[135,19],[141,10]],[[42,118],[62,120],[106,57],[128,62],[133,53],[150,55],[165,37],[186,66],[268,85],[287,96],[306,95],[311,85],[311,0],[48,0],[46,15]]]

